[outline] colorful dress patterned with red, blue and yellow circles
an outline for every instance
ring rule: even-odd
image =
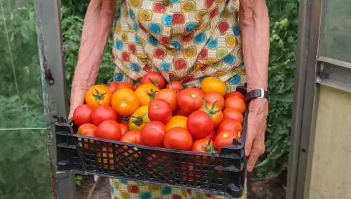
[[[233,91],[246,82],[238,25],[239,0],[123,0],[113,36],[113,80],[138,84],[149,71],[167,82],[200,87],[219,78]],[[246,198],[246,186],[244,191]],[[112,198],[223,198],[153,184],[111,179]]]

